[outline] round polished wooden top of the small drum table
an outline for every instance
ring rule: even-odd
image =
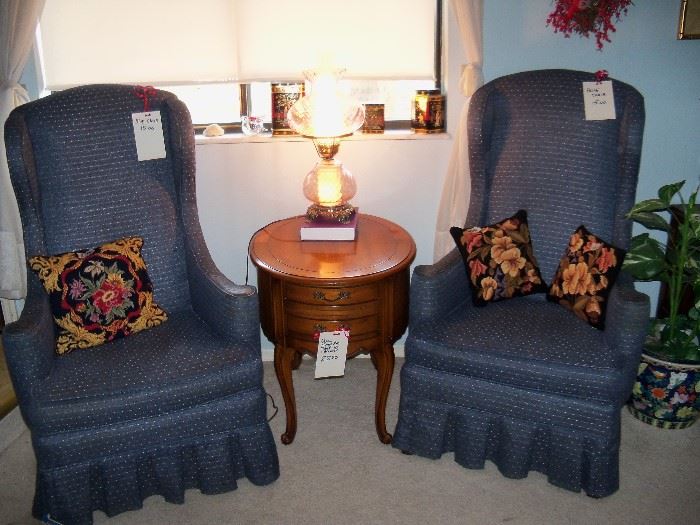
[[[391,273],[411,264],[416,245],[391,221],[360,214],[354,241],[302,241],[303,216],[258,230],[251,239],[253,263],[274,274],[300,279],[353,279]]]

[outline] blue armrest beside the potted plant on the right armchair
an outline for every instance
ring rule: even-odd
[[[624,370],[631,375],[630,381],[637,373],[649,329],[649,314],[649,296],[634,289],[628,274],[620,273],[608,297],[604,334],[608,345],[617,349],[623,359]]]

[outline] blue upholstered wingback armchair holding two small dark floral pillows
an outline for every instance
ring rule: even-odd
[[[613,80],[616,118],[586,121],[581,83],[594,80],[524,72],[471,100],[466,226],[526,210],[548,284],[579,225],[618,248],[630,242],[643,99]],[[620,274],[599,330],[542,293],[475,307],[468,279],[457,250],[414,271],[394,446],[428,458],[454,452],[467,468],[490,460],[511,478],[539,471],[593,497],[615,492],[647,296]]]

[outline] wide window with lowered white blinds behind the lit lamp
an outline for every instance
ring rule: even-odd
[[[332,50],[360,102],[408,121],[415,90],[439,87],[440,32],[441,0],[52,0],[39,41],[48,90],[154,85],[202,125],[269,122],[270,82],[301,80]]]

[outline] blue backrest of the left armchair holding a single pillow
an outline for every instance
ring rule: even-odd
[[[149,103],[161,113],[163,159],[137,159],[131,115],[144,102],[134,87],[92,85],[17,108],[6,125],[8,162],[27,256],[141,236],[155,298],[174,311],[189,304],[180,199],[194,199],[194,139],[174,95],[158,91]]]

